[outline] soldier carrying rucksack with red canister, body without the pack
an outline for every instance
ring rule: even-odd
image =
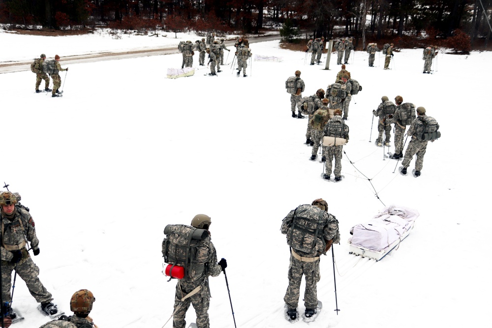
[[[191,220],[191,225],[198,229],[209,230],[211,223],[210,217],[205,214],[197,214]],[[208,314],[210,304],[208,277],[210,275],[216,277],[220,274],[221,270],[224,271],[227,268],[227,261],[225,259],[221,259],[217,263],[217,253],[210,239],[210,234],[205,239],[200,240],[196,246],[196,262],[204,263],[205,269],[202,272],[192,272],[188,277],[180,279],[176,285],[173,328],[185,328],[186,321],[184,318],[190,304],[193,305],[196,312],[196,326],[198,328],[210,327]],[[188,297],[186,298],[186,296]]]

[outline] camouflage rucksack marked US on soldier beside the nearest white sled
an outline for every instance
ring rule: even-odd
[[[282,228],[287,235],[287,244],[295,250],[309,254],[322,253],[326,242],[323,228],[327,224],[326,212],[312,205],[301,205],[294,210],[294,218],[288,227]]]

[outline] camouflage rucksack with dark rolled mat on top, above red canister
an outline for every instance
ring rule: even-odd
[[[194,228],[184,224],[169,224],[164,228],[166,237],[162,241],[162,256],[164,262],[184,268],[183,279],[193,281],[201,277],[206,263],[199,263],[197,258],[208,258],[207,254],[198,254],[197,246],[201,240],[209,236],[204,229]]]

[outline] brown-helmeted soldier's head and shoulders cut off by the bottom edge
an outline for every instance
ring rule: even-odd
[[[70,298],[70,311],[73,316],[62,315],[58,320],[50,321],[39,328],[93,328],[96,327],[89,316],[95,298],[91,291],[81,289]]]

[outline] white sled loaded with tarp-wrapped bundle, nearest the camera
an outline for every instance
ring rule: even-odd
[[[408,237],[419,216],[415,209],[392,205],[369,222],[352,227],[348,240],[350,254],[381,260]]]

